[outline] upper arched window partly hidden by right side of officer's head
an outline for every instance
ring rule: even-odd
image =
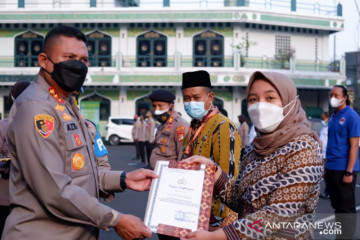
[[[111,66],[111,37],[95,31],[86,35],[89,67]]]

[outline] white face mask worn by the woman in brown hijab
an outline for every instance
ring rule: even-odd
[[[274,131],[282,122],[282,120],[291,112],[295,104],[291,107],[289,112],[284,116],[284,108],[296,101],[299,96],[296,96],[285,107],[281,108],[275,104],[268,102],[257,102],[248,107],[249,117],[255,128],[262,133],[270,133]]]

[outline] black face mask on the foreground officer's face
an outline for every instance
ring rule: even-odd
[[[49,57],[48,59],[54,64],[52,73],[47,73],[55,80],[55,82],[65,91],[80,91],[85,82],[88,67],[79,60],[67,60],[54,63]]]

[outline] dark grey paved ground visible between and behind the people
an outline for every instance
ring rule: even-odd
[[[110,163],[114,170],[132,171],[141,167],[141,165],[136,164],[137,162],[132,160],[135,155],[135,148],[133,145],[127,144],[115,147],[107,146],[107,148],[109,150]],[[356,189],[356,205],[359,206],[358,213],[360,213],[360,176],[358,176],[357,182],[358,187]],[[119,210],[120,212],[133,214],[140,217],[141,219],[144,219],[147,198],[147,192],[134,192],[127,190],[123,193],[117,193],[115,200],[106,204]],[[319,221],[333,221],[333,210],[330,206],[330,200],[320,199],[316,213],[316,219]],[[360,214],[358,214],[357,226],[358,233],[356,239],[360,239]],[[117,236],[113,229],[110,229],[108,232],[101,231],[100,239],[113,240],[120,239],[120,237]],[[156,234],[153,234],[151,239],[155,240],[158,238]],[[315,239],[335,239],[335,237],[332,234],[320,235],[317,232],[315,234]]]

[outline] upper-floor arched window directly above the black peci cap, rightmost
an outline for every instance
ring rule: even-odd
[[[210,30],[193,38],[194,67],[224,66],[224,37]]]

